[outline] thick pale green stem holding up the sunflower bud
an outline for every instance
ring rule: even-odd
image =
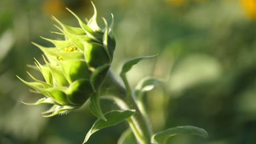
[[[112,99],[120,107],[120,109],[136,110],[135,115],[127,118],[127,122],[130,125],[133,134],[135,135],[139,144],[149,144],[150,137],[152,136],[152,129],[146,117],[142,115],[139,107],[136,103],[136,98],[133,97],[133,92],[125,76],[122,76],[126,89],[122,86],[117,79],[115,79],[113,73],[109,71],[106,80],[102,86],[102,94],[106,95],[102,98]]]

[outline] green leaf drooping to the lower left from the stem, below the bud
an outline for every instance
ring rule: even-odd
[[[91,129],[86,134],[83,144],[86,143],[90,136],[94,134],[96,131],[123,122],[126,118],[131,117],[134,113],[135,111],[133,110],[110,111],[106,113],[104,116],[106,117],[107,121],[97,119],[97,121],[94,123],[94,125],[92,125]]]

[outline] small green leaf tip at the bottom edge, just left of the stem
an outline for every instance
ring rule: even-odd
[[[131,129],[127,129],[120,136],[117,144],[136,144],[137,140]]]

